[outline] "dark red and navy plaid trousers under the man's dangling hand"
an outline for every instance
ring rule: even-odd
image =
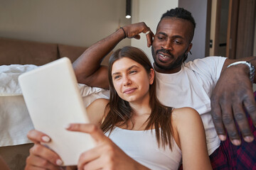
[[[255,92],[256,101],[256,92]],[[255,140],[247,143],[242,140],[238,147],[233,145],[229,138],[220,143],[220,147],[210,154],[210,163],[216,170],[256,170],[256,130],[250,116],[247,114],[250,128]],[[242,137],[241,137],[242,139]],[[179,170],[183,169],[182,165]]]

